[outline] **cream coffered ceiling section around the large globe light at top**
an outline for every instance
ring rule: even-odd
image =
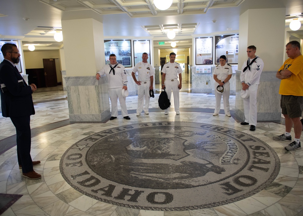
[[[173,0],[165,11],[153,0],[40,0],[62,11],[93,10],[100,15],[126,13],[129,17],[204,14],[210,8],[236,7],[244,0]],[[165,0],[163,0],[165,1]]]

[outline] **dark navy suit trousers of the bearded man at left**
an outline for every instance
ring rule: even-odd
[[[33,170],[33,163],[31,157],[30,116],[10,118],[16,128],[18,163],[22,165],[23,173],[31,172]]]

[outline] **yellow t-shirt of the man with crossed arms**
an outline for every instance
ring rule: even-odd
[[[281,80],[279,94],[303,96],[303,56],[287,59],[279,70],[291,71],[289,78]]]

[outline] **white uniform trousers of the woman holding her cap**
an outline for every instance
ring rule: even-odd
[[[221,98],[223,97],[224,113],[225,115],[230,115],[230,110],[229,110],[230,82],[228,81],[223,85],[224,91],[222,92],[222,94],[216,91],[218,85],[219,83],[215,82],[216,108],[214,113],[219,114],[221,108]]]

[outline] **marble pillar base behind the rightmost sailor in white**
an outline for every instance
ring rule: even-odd
[[[244,121],[243,99],[240,95],[242,89],[240,73],[240,70],[236,70],[235,115]],[[279,95],[281,80],[276,78],[276,73],[277,71],[263,71],[261,74],[257,94],[257,121],[278,121],[281,119],[281,95]]]

